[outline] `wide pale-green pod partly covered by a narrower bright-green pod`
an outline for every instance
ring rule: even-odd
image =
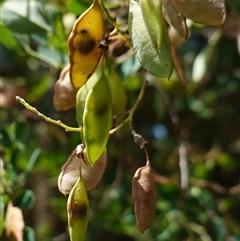
[[[164,21],[162,19],[162,21]],[[145,26],[140,6],[131,0],[129,7],[129,33],[136,56],[142,66],[151,74],[169,78],[173,64],[166,25],[163,22],[161,50],[155,47]]]

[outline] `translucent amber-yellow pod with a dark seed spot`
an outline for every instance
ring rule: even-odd
[[[68,38],[70,79],[75,88],[84,85],[96,69],[103,48],[104,21],[98,0],[95,0],[75,22]]]

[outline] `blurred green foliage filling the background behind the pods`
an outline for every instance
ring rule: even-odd
[[[114,11],[120,2],[105,4]],[[53,119],[77,126],[75,111],[56,112],[52,97],[59,72],[68,62],[67,37],[75,14],[80,15],[90,4],[77,0],[1,1],[3,240],[10,200],[23,211],[24,240],[69,240],[66,199],[58,191],[57,177],[80,138],[25,110],[15,96],[24,96]],[[126,21],[122,12],[114,13]],[[229,33],[239,13],[239,1],[227,2],[226,27],[208,56],[204,53],[214,29],[192,26],[190,38],[177,50],[188,79],[185,87],[175,73],[168,82],[148,76],[149,85],[133,124],[149,141],[155,172],[158,200],[151,228],[142,234],[135,224],[131,179],[136,168],[144,165],[145,155],[124,128],[110,138],[106,173],[89,193],[86,240],[240,240],[240,57],[236,36]],[[236,31],[239,34],[239,26]],[[124,51],[119,50],[120,54]],[[192,72],[193,65],[200,55],[207,64],[206,73],[201,73],[200,82],[193,82],[192,76],[197,74]],[[141,85],[140,65],[131,56],[118,64],[117,70],[130,108]],[[180,146],[188,167],[186,189],[181,189]]]

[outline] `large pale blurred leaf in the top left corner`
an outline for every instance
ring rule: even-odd
[[[35,0],[9,0],[2,5],[1,21],[19,33],[43,33],[51,30],[40,13],[42,5]]]

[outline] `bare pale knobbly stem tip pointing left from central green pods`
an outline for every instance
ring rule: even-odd
[[[58,126],[64,128],[65,131],[73,131],[73,132],[81,132],[82,131],[82,127],[79,127],[79,128],[70,127],[70,126],[63,124],[60,120],[56,121],[56,120],[53,120],[53,119],[45,116],[44,114],[39,112],[35,107],[32,107],[31,105],[29,105],[24,99],[20,98],[19,96],[16,96],[16,100],[19,101],[22,105],[24,105],[28,110],[30,110],[33,113],[35,113],[36,115],[38,115],[40,118],[44,119],[47,122],[50,122],[52,124],[55,124],[55,125],[58,125]]]

